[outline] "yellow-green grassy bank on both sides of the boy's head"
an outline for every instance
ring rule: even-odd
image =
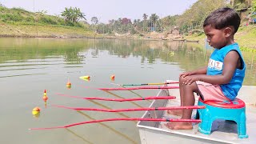
[[[188,40],[199,40],[205,42],[204,34],[193,34],[186,36]],[[240,26],[238,32],[234,36],[235,42],[238,42],[242,50],[256,52],[256,26]]]

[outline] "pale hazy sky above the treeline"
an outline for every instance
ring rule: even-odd
[[[31,12],[46,10],[46,14],[59,15],[65,7],[78,7],[86,14],[87,22],[97,17],[99,22],[110,19],[142,19],[143,14],[158,14],[160,18],[182,14],[198,0],[0,0],[8,8],[21,7]]]

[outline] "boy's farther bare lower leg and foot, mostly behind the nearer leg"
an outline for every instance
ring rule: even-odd
[[[183,78],[179,78],[179,96],[181,98],[181,106],[183,106]],[[182,116],[182,110],[167,110],[168,114]]]

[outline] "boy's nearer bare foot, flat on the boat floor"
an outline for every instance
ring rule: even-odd
[[[168,122],[165,124],[170,130],[192,130],[191,122]]]

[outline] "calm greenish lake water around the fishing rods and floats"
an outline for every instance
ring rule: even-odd
[[[82,97],[139,98],[158,90],[111,91],[90,87],[119,87],[178,80],[178,74],[205,66],[212,50],[195,43],[50,38],[0,38],[0,143],[139,143],[136,122],[102,122],[68,129],[28,130],[65,126],[104,118],[140,118],[143,111],[104,113],[66,110],[72,107],[124,109],[147,107],[148,101],[104,102],[60,97],[57,93]],[[244,52],[247,64],[244,85],[256,86],[256,56]],[[110,76],[114,74],[114,82]],[[79,77],[90,75],[90,81]],[[70,80],[71,89],[66,88]],[[115,83],[115,84],[114,84]],[[42,101],[46,90],[48,101]],[[35,118],[31,111],[41,108]]]

